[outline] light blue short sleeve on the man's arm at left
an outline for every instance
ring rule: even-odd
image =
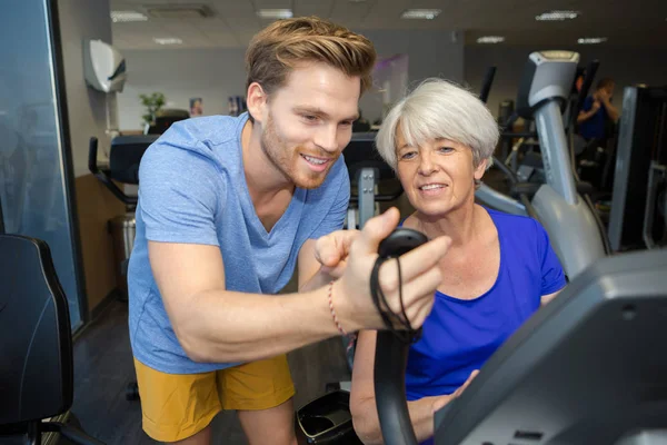
[[[197,147],[156,141],[139,168],[137,210],[147,239],[218,246],[215,220],[226,191],[221,178],[213,159]]]

